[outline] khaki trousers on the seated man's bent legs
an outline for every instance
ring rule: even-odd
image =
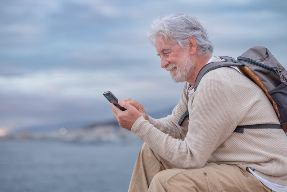
[[[180,169],[142,145],[128,192],[272,191],[243,165],[206,164],[200,169]]]

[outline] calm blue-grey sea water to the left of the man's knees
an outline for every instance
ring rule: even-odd
[[[1,141],[0,192],[127,191],[142,141]]]

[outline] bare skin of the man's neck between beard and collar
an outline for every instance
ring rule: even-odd
[[[199,73],[199,71],[201,70],[201,68],[208,62],[208,60],[210,60],[212,56],[208,55],[208,56],[197,56],[194,59],[194,69],[191,71],[191,74],[189,75],[189,79],[187,79],[187,82],[190,83],[193,87],[195,84],[195,79]]]

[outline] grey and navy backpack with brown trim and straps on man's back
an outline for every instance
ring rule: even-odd
[[[221,56],[220,58],[225,59],[225,61],[208,63],[199,71],[195,80],[194,91],[196,91],[201,78],[209,71],[223,66],[236,66],[243,75],[247,76],[263,90],[272,103],[281,125],[237,126],[234,131],[243,133],[244,128],[275,128],[283,129],[287,133],[287,72],[278,60],[267,48],[260,46],[250,48],[237,57],[237,61],[226,56]],[[188,117],[188,110],[180,118],[180,126],[186,117]]]

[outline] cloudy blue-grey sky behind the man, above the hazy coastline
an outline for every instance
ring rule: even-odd
[[[287,68],[286,9],[284,0],[1,0],[0,136],[110,121],[105,91],[148,114],[174,107],[183,83],[160,67],[146,37],[164,15],[195,16],[214,56],[265,46]]]

